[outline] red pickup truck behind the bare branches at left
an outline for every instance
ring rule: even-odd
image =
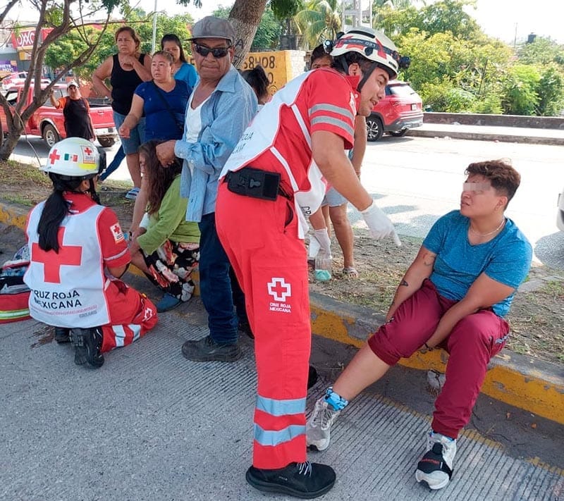
[[[66,85],[56,84],[53,87],[54,97],[56,99],[66,96]],[[16,106],[23,92],[23,85],[15,85],[6,91],[6,101],[11,106]],[[31,103],[33,99],[33,86],[27,92],[27,103]],[[112,146],[117,138],[118,131],[114,124],[114,113],[111,106],[98,104],[90,104],[90,116],[94,124],[94,132],[98,142],[103,147]],[[63,117],[63,109],[56,109],[49,99],[43,106],[39,106],[32,117],[25,124],[25,132],[30,135],[43,137],[49,148],[56,142],[66,137],[65,119]],[[0,125],[2,130],[8,130],[6,124],[6,116],[4,110],[0,107]]]

